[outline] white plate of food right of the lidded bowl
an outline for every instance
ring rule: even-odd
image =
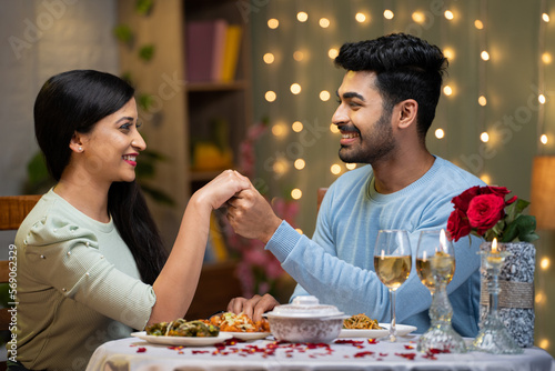
[[[390,323],[379,323],[364,313],[352,315],[343,320],[339,338],[367,338],[377,339],[387,337],[390,333]],[[414,325],[397,324],[397,335],[404,337],[416,330]]]

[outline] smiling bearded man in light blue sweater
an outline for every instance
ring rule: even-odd
[[[389,322],[389,292],[373,267],[377,231],[407,230],[414,262],[420,232],[445,229],[452,198],[484,183],[426,149],[447,66],[437,47],[390,34],[344,44],[335,64],[346,70],[332,118],[341,131],[340,158],[370,166],[330,187],[312,240],[278,218],[254,189],[229,202],[228,217],[235,232],[264,242],[295,279],[293,297],[312,294],[346,314]],[[455,244],[456,271],[447,287],[453,325],[464,337],[478,331],[481,241],[471,242]],[[431,294],[414,269],[396,298],[397,322],[427,330]],[[235,298],[228,310],[259,319],[276,304],[268,294]]]

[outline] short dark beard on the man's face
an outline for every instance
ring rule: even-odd
[[[364,149],[359,147],[356,151],[352,148],[342,147],[340,149],[340,159],[345,163],[375,163],[376,161],[385,159],[395,148],[395,140],[393,138],[393,130],[391,128],[392,112],[385,111],[382,113],[375,123],[374,133],[372,138],[362,138],[361,144],[364,141],[370,143],[369,148]]]

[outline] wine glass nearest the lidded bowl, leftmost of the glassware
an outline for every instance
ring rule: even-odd
[[[404,230],[380,230],[374,248],[374,269],[390,290],[391,325],[389,340],[397,338],[395,319],[395,291],[411,274],[412,253],[408,233]]]

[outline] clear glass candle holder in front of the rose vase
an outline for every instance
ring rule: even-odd
[[[490,312],[480,323],[480,332],[476,339],[474,339],[471,350],[494,354],[519,354],[523,350],[509,335],[497,310],[497,300],[501,292],[500,273],[505,258],[511,255],[511,252],[480,251],[478,253],[482,255],[482,268],[492,277],[490,282],[487,282]]]

